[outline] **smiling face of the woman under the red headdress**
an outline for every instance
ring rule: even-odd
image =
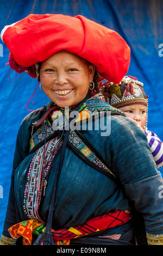
[[[60,51],[41,63],[40,82],[43,92],[59,107],[82,101],[92,82],[95,66],[76,54]]]

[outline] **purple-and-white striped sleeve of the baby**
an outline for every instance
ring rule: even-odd
[[[159,137],[152,131],[145,131],[151,153],[154,157],[157,168],[163,166],[163,142],[160,141]]]

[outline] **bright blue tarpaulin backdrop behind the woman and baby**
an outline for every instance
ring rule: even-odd
[[[144,83],[149,95],[148,129],[163,139],[163,1],[162,0],[1,0],[0,30],[29,14],[84,15],[88,19],[114,29],[131,48],[127,75]],[[65,35],[66,36],[66,35]],[[29,113],[26,103],[37,80],[26,73],[9,73],[9,50],[0,42],[0,235],[10,188],[12,160],[18,127]],[[10,79],[9,79],[10,76]],[[10,82],[11,80],[11,82]],[[49,100],[37,89],[28,108],[42,107]],[[142,153],[143,154],[143,153]],[[134,161],[134,159],[133,159]],[[161,168],[159,169],[161,171]]]

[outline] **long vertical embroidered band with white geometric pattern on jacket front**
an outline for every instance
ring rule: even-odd
[[[26,188],[24,190],[24,212],[26,212],[29,218],[36,218],[40,220],[38,215],[38,209],[41,200],[43,180],[48,175],[54,156],[62,145],[58,143],[60,138],[54,138],[48,141],[45,145],[46,151],[44,151],[44,145],[40,147],[30,163]],[[29,189],[30,188],[30,189]]]

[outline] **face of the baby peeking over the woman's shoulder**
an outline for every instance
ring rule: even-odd
[[[127,117],[132,118],[140,124],[140,126],[145,127],[146,125],[146,111],[147,107],[143,104],[132,104],[126,107],[119,108]]]

